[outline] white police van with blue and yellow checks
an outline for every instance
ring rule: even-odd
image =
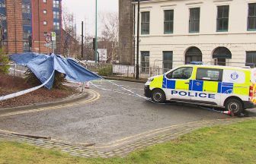
[[[156,103],[165,100],[217,106],[240,114],[256,103],[256,70],[214,65],[182,65],[149,78],[145,96]]]

